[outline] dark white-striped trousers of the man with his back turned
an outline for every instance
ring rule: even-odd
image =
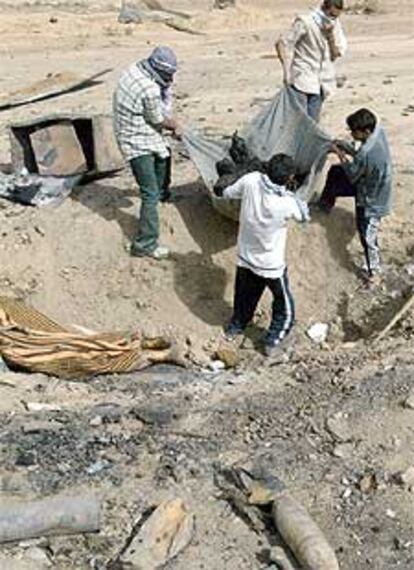
[[[289,289],[287,271],[277,279],[261,277],[250,269],[237,267],[234,308],[230,327],[243,330],[252,320],[257,304],[268,287],[273,295],[272,320],[266,344],[279,344],[295,320],[295,304]]]

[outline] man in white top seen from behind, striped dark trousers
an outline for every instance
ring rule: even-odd
[[[291,157],[275,155],[267,170],[267,174],[246,174],[224,191],[215,188],[215,193],[224,199],[241,200],[234,308],[226,336],[231,339],[243,332],[269,287],[273,295],[272,319],[264,349],[270,356],[291,330],[295,318],[285,264],[287,221],[306,221],[308,208],[286,190],[295,174]]]

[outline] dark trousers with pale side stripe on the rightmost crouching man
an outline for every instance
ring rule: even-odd
[[[349,181],[344,169],[339,164],[335,164],[329,169],[319,204],[329,212],[339,197],[356,199],[356,189]],[[378,228],[381,218],[367,216],[365,208],[357,206],[356,203],[355,217],[359,239],[364,250],[366,269],[368,274],[372,275],[380,269],[381,265],[378,246]]]

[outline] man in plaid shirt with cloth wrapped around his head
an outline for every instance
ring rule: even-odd
[[[178,129],[166,112],[176,70],[174,52],[157,47],[121,75],[114,93],[115,135],[141,193],[138,231],[131,245],[134,256],[162,259],[169,254],[158,243],[158,202],[165,192],[170,158],[163,132],[177,134]]]

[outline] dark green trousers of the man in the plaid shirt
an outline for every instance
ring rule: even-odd
[[[167,159],[146,154],[131,160],[130,165],[141,195],[138,231],[132,248],[135,253],[148,254],[158,246],[158,202],[165,187]]]

